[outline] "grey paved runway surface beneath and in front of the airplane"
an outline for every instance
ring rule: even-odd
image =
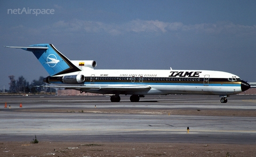
[[[31,141],[36,135],[60,142],[256,144],[256,95],[231,95],[227,103],[210,95],[146,96],[136,103],[129,96],[118,103],[105,95],[0,96],[0,103],[0,141]],[[251,116],[170,114],[175,110]]]

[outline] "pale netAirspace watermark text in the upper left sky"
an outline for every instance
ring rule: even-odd
[[[7,14],[35,14],[36,16],[39,15],[39,14],[54,14],[54,9],[50,9],[50,8],[47,8],[47,9],[39,9],[39,8],[26,8],[26,7],[23,7],[22,9],[21,8],[14,8],[14,9],[7,9]]]

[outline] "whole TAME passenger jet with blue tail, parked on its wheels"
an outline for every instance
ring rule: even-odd
[[[121,94],[131,95],[138,102],[145,95],[207,94],[220,95],[221,103],[227,97],[251,88],[237,75],[206,70],[155,69],[94,69],[94,60],[69,60],[52,44],[5,46],[31,51],[50,76],[44,82],[54,85],[43,87],[82,92],[113,94],[111,102],[119,102]]]

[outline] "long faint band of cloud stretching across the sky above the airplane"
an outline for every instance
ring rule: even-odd
[[[23,25],[12,27],[12,30],[23,29]],[[41,28],[27,28],[29,34],[38,35],[45,31],[51,33],[109,33],[118,36],[126,33],[204,33],[204,34],[230,34],[238,37],[252,37],[256,34],[256,25],[240,25],[233,22],[200,23],[185,25],[181,22],[163,22],[158,20],[132,20],[122,24],[104,23],[99,21],[86,21],[73,19],[70,21],[57,21],[52,25]]]

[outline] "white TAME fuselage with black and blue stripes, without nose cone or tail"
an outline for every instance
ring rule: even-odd
[[[69,74],[71,75],[71,74]],[[73,73],[84,75],[85,81],[79,86],[95,87],[82,89],[85,92],[109,94],[216,94],[230,95],[242,92],[241,79],[238,76],[219,71],[202,70],[98,70],[91,69]],[[52,82],[53,83],[53,82]],[[77,86],[55,82],[58,85]],[[147,85],[149,90],[104,90],[97,87],[111,86],[118,88]]]

